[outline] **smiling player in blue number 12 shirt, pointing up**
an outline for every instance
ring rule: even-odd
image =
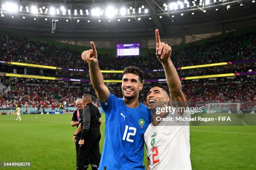
[[[99,170],[145,170],[143,134],[151,121],[151,111],[138,101],[143,72],[138,67],[126,67],[121,86],[123,98],[115,97],[104,84],[93,42],[91,46],[82,53],[82,60],[89,63],[90,79],[106,115]]]

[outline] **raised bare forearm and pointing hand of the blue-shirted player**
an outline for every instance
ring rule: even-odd
[[[95,89],[98,99],[101,102],[107,102],[110,92],[105,85],[103,75],[100,72],[100,67],[97,59],[97,51],[93,42],[91,42],[92,49],[82,53],[82,60],[89,63],[90,79],[92,86]]]

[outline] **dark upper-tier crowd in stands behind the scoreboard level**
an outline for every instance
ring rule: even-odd
[[[43,42],[32,42],[25,37],[13,37],[0,33],[0,49],[0,60],[3,61],[88,69],[88,65],[81,60],[81,52],[68,47],[56,47]],[[202,45],[191,44],[180,50],[173,50],[171,56],[175,67],[247,60],[255,59],[255,57],[255,34],[238,37],[228,36]],[[98,60],[100,61],[101,70],[123,70],[129,65],[137,66],[141,70],[161,68],[155,54],[120,58],[110,54],[98,54]]]

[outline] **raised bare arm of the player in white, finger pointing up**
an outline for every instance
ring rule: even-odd
[[[159,30],[156,29],[156,56],[164,67],[164,74],[169,87],[172,105],[178,107],[187,107],[187,102],[182,92],[182,85],[179,80],[179,75],[170,58],[171,52],[171,46],[160,41]],[[179,114],[182,114],[182,112],[179,112]]]

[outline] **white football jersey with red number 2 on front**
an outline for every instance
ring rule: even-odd
[[[166,117],[190,117],[190,113],[177,112]],[[183,125],[182,125],[183,124]],[[150,124],[144,133],[151,170],[191,170],[189,125],[181,122],[161,121]]]

